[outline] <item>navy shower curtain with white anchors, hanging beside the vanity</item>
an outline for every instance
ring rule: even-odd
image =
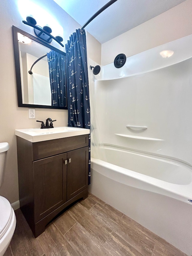
[[[65,44],[68,126],[90,129],[87,48],[84,29],[76,29]],[[88,185],[91,176],[91,135],[89,134]]]

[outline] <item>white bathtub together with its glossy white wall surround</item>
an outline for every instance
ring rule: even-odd
[[[113,63],[102,67],[95,81],[95,104],[104,147],[99,158],[92,155],[90,188],[188,255],[191,40],[189,35],[128,57],[119,69]],[[162,58],[162,50],[174,54]]]

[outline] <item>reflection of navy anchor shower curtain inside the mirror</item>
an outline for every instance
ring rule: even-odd
[[[52,106],[66,106],[65,96],[65,56],[55,51],[47,53]]]

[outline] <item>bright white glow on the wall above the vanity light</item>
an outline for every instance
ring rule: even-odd
[[[18,0],[17,5],[23,20],[26,20],[27,16],[31,16],[35,18],[38,25],[51,27],[53,36],[59,35],[63,38],[63,27],[52,14],[41,7],[41,1],[36,4],[31,0]]]

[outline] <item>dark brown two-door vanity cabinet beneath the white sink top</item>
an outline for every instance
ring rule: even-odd
[[[88,196],[88,135],[32,143],[17,136],[20,208],[35,237]]]

